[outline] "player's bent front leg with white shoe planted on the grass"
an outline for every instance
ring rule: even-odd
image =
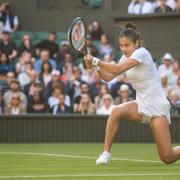
[[[97,165],[110,163],[112,142],[121,120],[131,120],[136,122],[143,120],[142,115],[138,114],[138,105],[136,102],[132,101],[124,103],[113,109],[106,125],[104,152],[97,159]]]

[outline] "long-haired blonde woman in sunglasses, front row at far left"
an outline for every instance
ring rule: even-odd
[[[4,109],[5,114],[12,114],[12,115],[18,115],[18,114],[25,114],[26,113],[26,107],[23,106],[21,97],[18,93],[13,93],[12,98],[10,100],[10,103],[5,107]]]

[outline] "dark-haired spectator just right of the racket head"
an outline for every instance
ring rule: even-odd
[[[89,25],[89,34],[92,37],[92,40],[100,41],[101,35],[104,33],[100,22],[93,21],[91,25]]]

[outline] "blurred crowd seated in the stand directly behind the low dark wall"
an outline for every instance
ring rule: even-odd
[[[133,1],[132,3],[137,4]],[[18,46],[11,33],[18,31],[18,17],[11,5],[0,6],[0,113],[81,113],[108,115],[121,103],[132,101],[136,92],[125,74],[104,82],[98,73],[86,69],[82,54],[67,40],[57,43],[57,34],[33,44],[28,34]],[[87,46],[93,56],[117,63],[121,52],[110,43],[98,21],[89,24]],[[170,53],[157,64],[173,114],[180,114],[180,63]],[[156,62],[156,61],[155,61]]]

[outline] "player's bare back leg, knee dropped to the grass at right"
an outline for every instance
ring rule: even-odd
[[[169,124],[165,117],[156,117],[150,123],[160,159],[169,164],[180,159],[180,146],[172,148]]]

